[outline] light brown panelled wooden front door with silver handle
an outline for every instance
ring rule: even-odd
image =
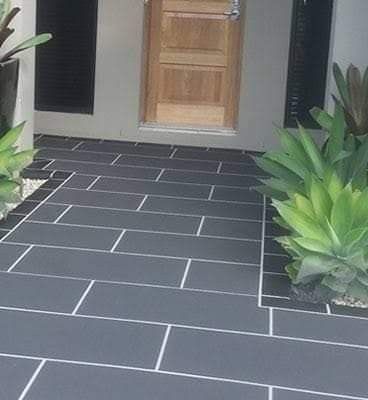
[[[151,0],[145,122],[234,128],[240,22],[230,0]]]

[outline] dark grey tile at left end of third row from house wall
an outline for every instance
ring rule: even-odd
[[[105,164],[110,164],[118,156],[117,154],[56,149],[42,149],[38,155],[49,160],[90,161],[93,163]]]

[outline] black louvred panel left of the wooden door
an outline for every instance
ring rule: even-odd
[[[36,51],[40,111],[93,114],[98,0],[37,0],[37,32],[52,41]]]

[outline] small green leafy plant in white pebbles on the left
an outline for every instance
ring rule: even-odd
[[[25,122],[10,129],[0,139],[0,214],[4,218],[9,212],[10,203],[18,203],[23,195],[21,172],[32,163],[37,150],[18,152],[16,142]]]

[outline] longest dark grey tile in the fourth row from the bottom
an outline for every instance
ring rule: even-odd
[[[17,264],[14,271],[91,280],[179,286],[185,266],[185,260],[34,247]]]

